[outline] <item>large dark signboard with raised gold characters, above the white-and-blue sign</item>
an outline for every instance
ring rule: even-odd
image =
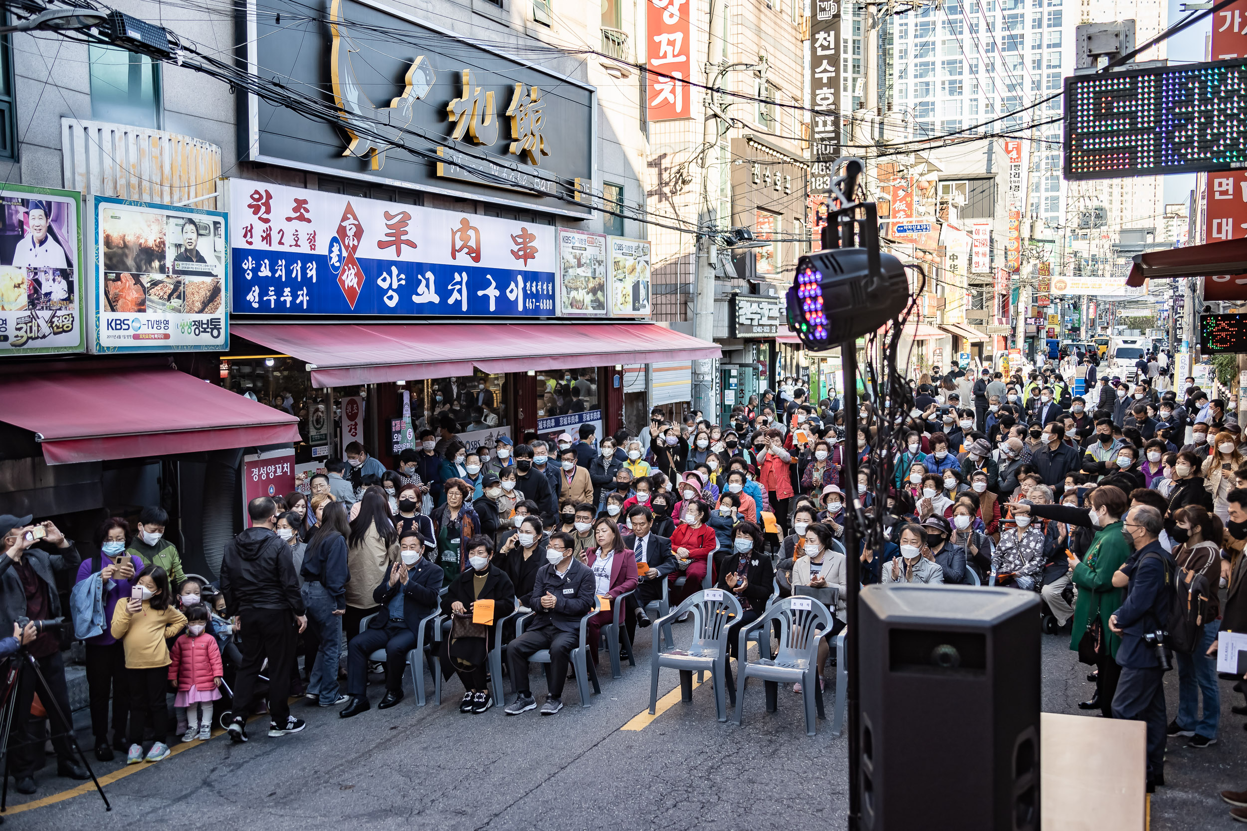
[[[319,90],[338,118],[246,95],[239,158],[591,216],[556,194],[592,181],[594,87],[380,0],[330,0],[322,20],[296,0],[246,9],[248,69]]]

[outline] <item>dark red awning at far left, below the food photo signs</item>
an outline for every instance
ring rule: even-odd
[[[299,441],[288,412],[172,369],[10,375],[0,401],[49,465]]]

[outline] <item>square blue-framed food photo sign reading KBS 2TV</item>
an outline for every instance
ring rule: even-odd
[[[95,199],[92,351],[229,348],[224,213]]]

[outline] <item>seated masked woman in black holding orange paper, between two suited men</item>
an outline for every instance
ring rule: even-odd
[[[534,521],[540,522],[535,517]],[[494,627],[515,610],[516,589],[506,571],[493,562],[494,544],[489,537],[473,537],[466,548],[471,568],[451,581],[441,597],[441,614],[450,620],[450,632],[441,640],[441,674],[448,679],[458,674],[463,681],[459,711],[479,715],[495,704],[489,690],[489,649]],[[471,622],[473,604],[478,601],[494,602],[491,623]]]

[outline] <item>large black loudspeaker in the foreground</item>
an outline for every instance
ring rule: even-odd
[[[859,596],[862,829],[1038,831],[1039,594]]]

